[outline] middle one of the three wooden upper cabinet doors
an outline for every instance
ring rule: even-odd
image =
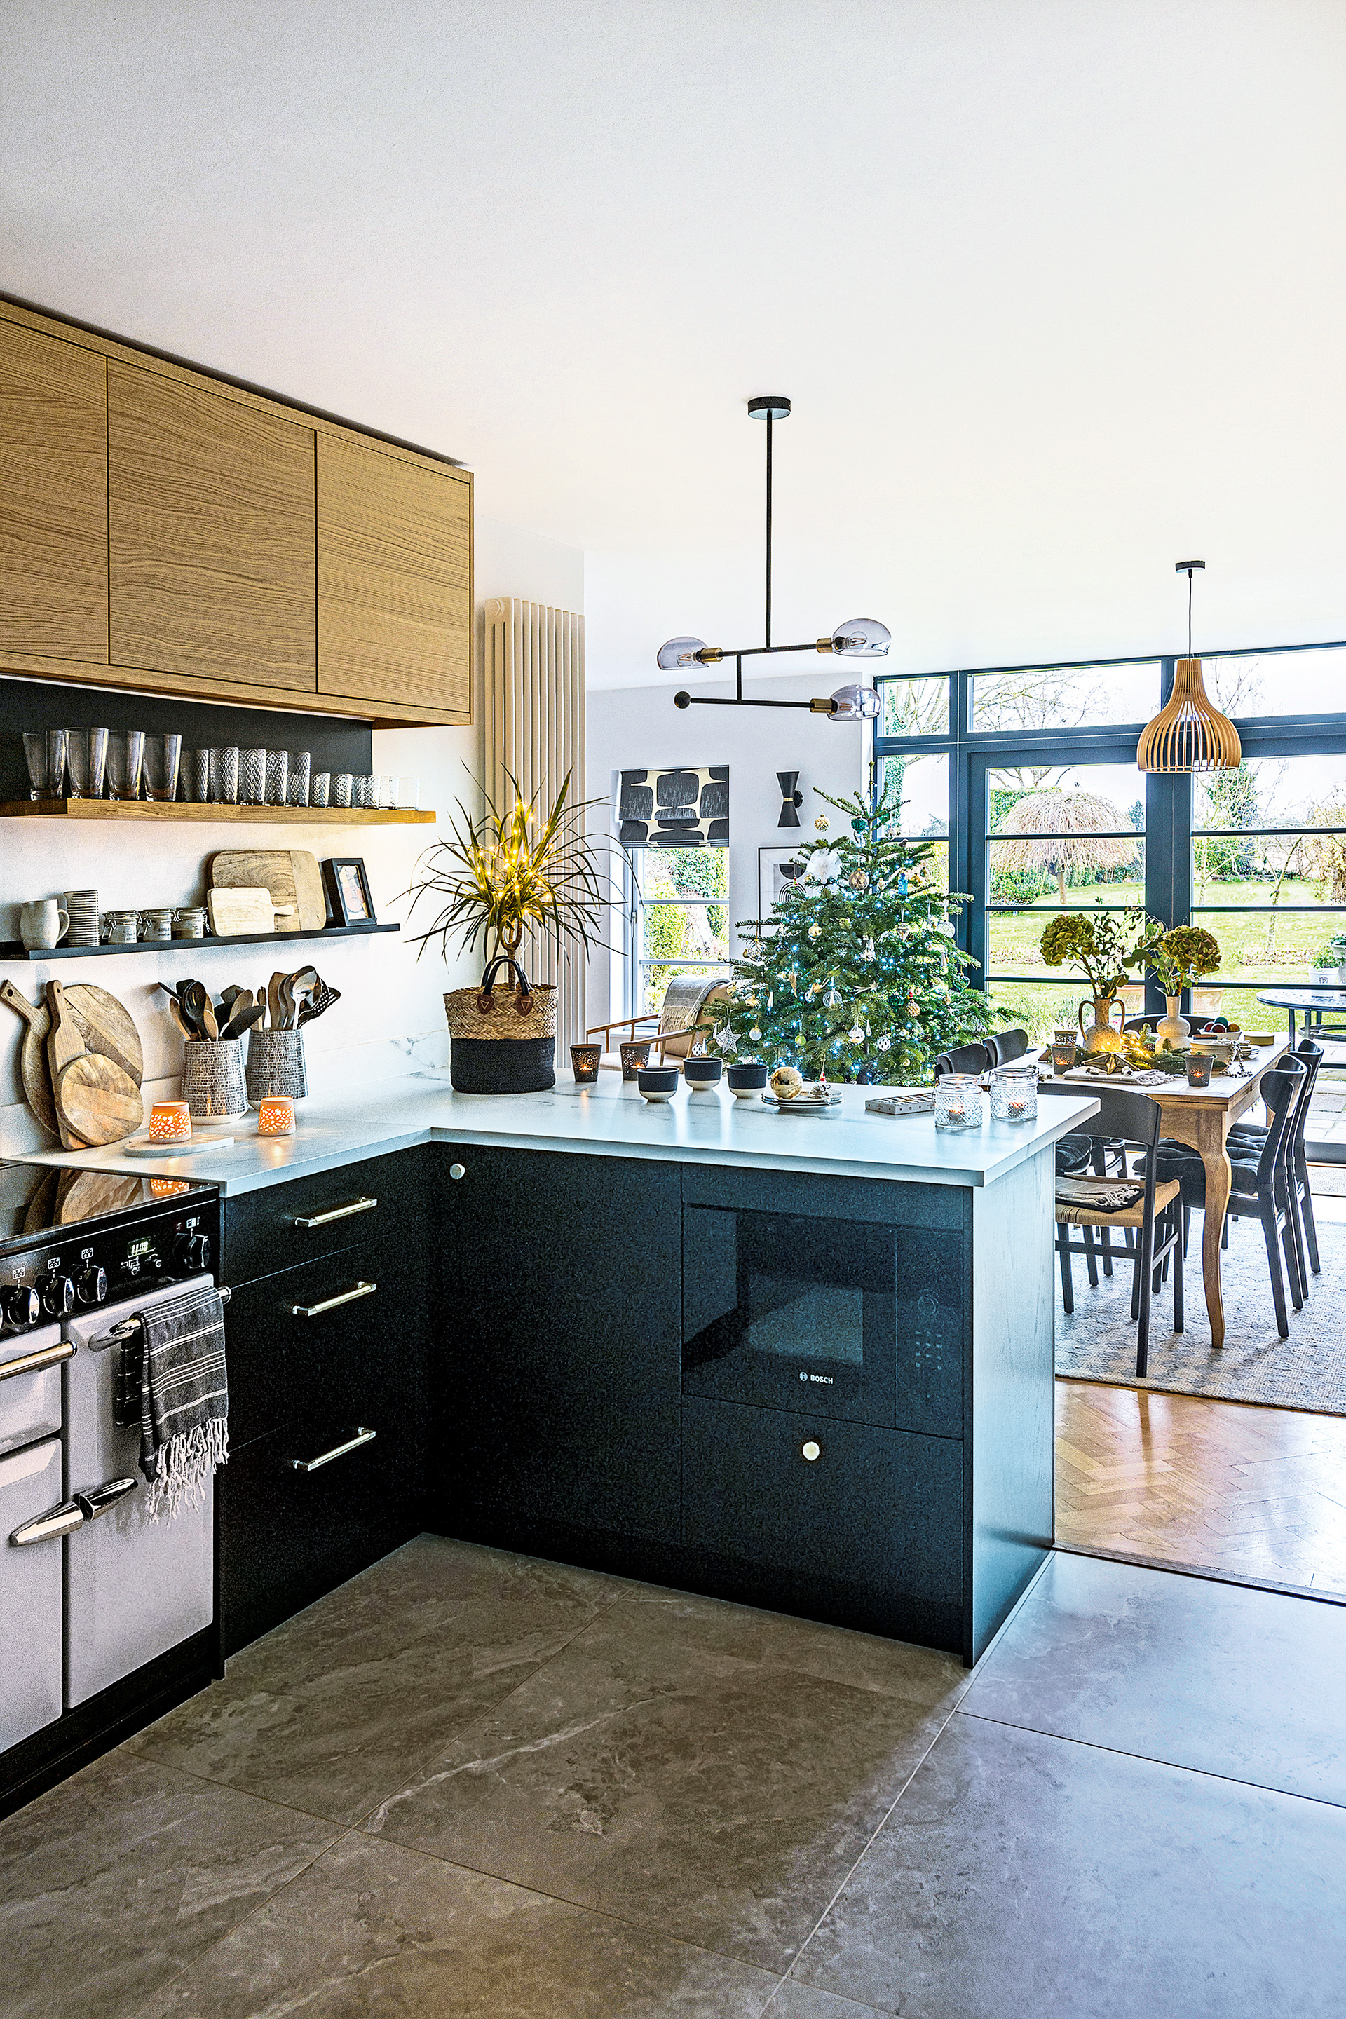
[[[313,454],[311,428],[109,359],[115,664],[315,690]]]

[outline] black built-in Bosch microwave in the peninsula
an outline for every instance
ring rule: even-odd
[[[688,1205],[682,1242],[684,1393],[961,1433],[955,1234]]]

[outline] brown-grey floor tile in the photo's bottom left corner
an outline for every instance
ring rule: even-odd
[[[4,2019],[139,2019],[339,1835],[109,1752],[0,1823]]]

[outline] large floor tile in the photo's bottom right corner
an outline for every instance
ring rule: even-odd
[[[795,1977],[902,2019],[1336,2019],[1346,1815],[957,1716]]]

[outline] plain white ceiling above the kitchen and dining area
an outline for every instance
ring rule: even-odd
[[[1340,0],[8,0],[0,285],[446,450],[595,684],[1346,636]],[[789,668],[791,662],[785,662]],[[807,664],[807,662],[805,662]]]

